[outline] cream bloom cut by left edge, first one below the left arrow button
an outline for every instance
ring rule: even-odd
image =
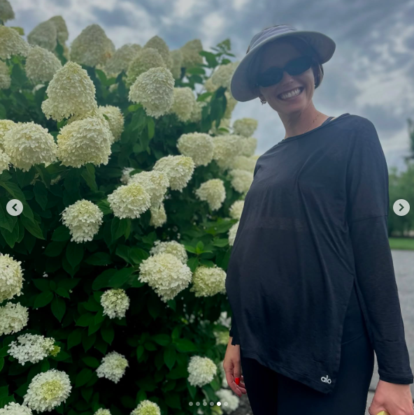
[[[24,278],[21,264],[9,254],[0,254],[0,303],[22,295]]]

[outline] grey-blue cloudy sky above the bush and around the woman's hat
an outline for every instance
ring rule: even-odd
[[[245,55],[252,36],[274,24],[320,31],[336,42],[324,64],[324,80],[315,91],[317,110],[338,116],[345,112],[373,122],[388,166],[404,169],[409,152],[407,118],[414,119],[414,0],[10,0],[24,27],[62,15],[69,43],[87,25],[98,23],[119,48],[144,45],[152,36],[170,50],[199,38],[204,50],[226,38],[236,60]],[[262,154],[285,136],[277,112],[253,100],[238,103],[232,121],[259,121],[254,136]]]

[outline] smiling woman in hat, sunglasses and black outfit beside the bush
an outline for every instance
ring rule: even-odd
[[[227,269],[223,367],[254,415],[363,415],[374,350],[369,413],[414,414],[383,149],[368,119],[328,117],[312,102],[335,47],[319,32],[270,27],[231,79],[236,100],[269,103],[286,131],[257,160]]]

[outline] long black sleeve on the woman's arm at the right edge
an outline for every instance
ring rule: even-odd
[[[381,380],[412,384],[404,322],[388,241],[388,169],[372,122],[355,131],[348,159],[347,221],[357,287]]]

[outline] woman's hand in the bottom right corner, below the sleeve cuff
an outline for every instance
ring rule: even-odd
[[[381,411],[387,411],[390,415],[414,415],[410,385],[380,380],[368,412],[377,415]]]

